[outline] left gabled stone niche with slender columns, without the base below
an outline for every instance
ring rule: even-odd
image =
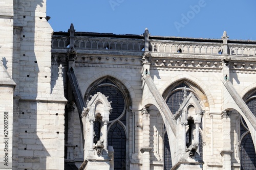
[[[84,130],[84,157],[108,153],[108,122],[112,111],[111,102],[104,94],[97,92],[82,112]],[[87,159],[87,158],[85,158]]]

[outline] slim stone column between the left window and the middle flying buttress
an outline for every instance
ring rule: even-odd
[[[147,170],[150,169],[150,114],[148,114],[146,108],[144,107],[142,110],[142,123],[143,123],[143,147],[140,149],[142,153],[142,169]]]

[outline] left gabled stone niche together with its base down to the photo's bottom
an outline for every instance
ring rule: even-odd
[[[87,101],[87,107],[83,108],[81,115],[84,134],[84,161],[80,169],[95,169],[95,166],[92,166],[95,164],[101,169],[114,169],[111,166],[114,151],[108,146],[108,122],[112,111],[111,102],[108,101],[108,97],[100,92],[90,97],[91,100]],[[108,147],[110,151],[108,151]]]

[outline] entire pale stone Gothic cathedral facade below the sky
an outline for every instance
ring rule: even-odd
[[[0,169],[256,169],[256,41],[54,32],[0,8]]]

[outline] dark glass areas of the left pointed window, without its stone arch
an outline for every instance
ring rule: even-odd
[[[109,96],[108,101],[112,102],[112,112],[109,116],[110,121],[119,120],[126,125],[125,101],[122,92],[109,79],[103,80],[90,95],[101,92],[105,96]],[[90,100],[90,99],[89,99]],[[108,125],[108,145],[114,149],[114,169],[126,169],[126,134],[125,129],[120,122],[112,122]],[[99,136],[100,124],[95,122],[94,131],[96,138]]]

